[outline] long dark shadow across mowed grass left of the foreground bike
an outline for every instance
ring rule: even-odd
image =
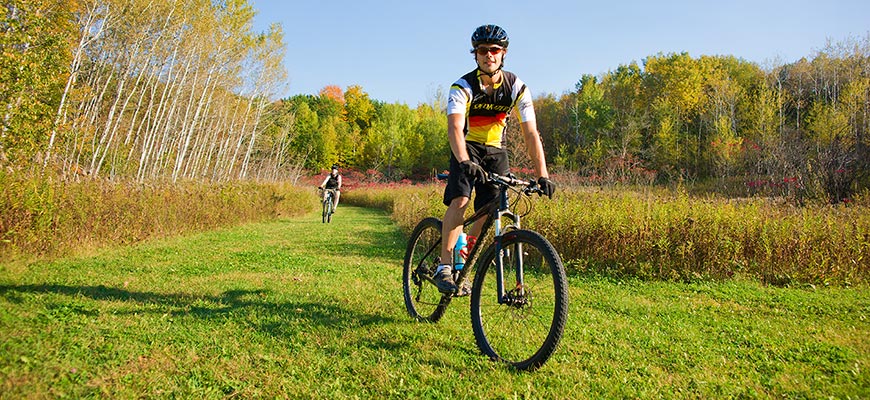
[[[372,326],[401,323],[392,316],[370,314],[342,305],[337,299],[324,302],[275,301],[269,290],[227,290],[219,295],[137,292],[115,287],[63,284],[0,285],[0,297],[21,304],[22,294],[61,295],[98,302],[123,302],[121,309],[100,311],[71,307],[72,312],[91,318],[101,312],[112,315],[169,315],[223,323],[228,319],[247,324],[276,338],[291,339],[304,330],[322,328],[342,332]],[[99,306],[96,306],[99,307]],[[360,346],[396,350],[410,342],[360,339]]]

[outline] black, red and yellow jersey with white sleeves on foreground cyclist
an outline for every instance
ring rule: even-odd
[[[516,107],[520,122],[535,120],[532,96],[526,84],[511,72],[486,94],[480,83],[480,70],[463,75],[452,86],[447,98],[447,114],[465,115],[465,140],[502,147],[507,117]]]

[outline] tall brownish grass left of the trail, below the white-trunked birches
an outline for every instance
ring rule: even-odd
[[[62,255],[317,207],[289,184],[59,181],[0,172],[0,256]]]

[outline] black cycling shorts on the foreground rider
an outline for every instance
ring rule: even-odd
[[[477,142],[465,142],[465,149],[471,161],[480,164],[487,172],[505,175],[510,169],[507,150],[486,146]],[[447,188],[444,189],[444,205],[449,206],[453,199],[465,196],[471,197],[472,188],[477,191],[474,197],[474,210],[477,211],[498,196],[498,188],[486,182],[471,182],[471,178],[462,172],[459,161],[450,152],[450,175],[447,177]]]

